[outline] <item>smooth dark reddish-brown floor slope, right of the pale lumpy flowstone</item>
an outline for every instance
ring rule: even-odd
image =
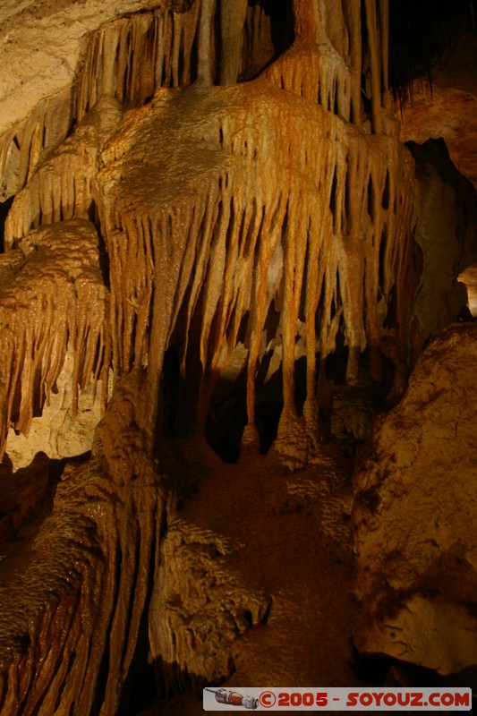
[[[234,643],[232,676],[211,686],[362,685],[351,668],[349,461],[331,447],[317,464],[289,473],[273,452],[225,464],[200,445],[197,456],[203,476],[181,521],[239,545],[227,567],[231,575],[271,599],[266,623]],[[190,466],[193,471],[193,461]],[[183,696],[147,713],[203,711],[201,700]]]

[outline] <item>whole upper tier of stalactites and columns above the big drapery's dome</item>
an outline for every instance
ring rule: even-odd
[[[294,47],[266,77],[359,126],[364,94],[373,130],[381,132],[388,107],[388,0],[294,0],[293,13],[295,33],[288,35],[295,34]],[[259,0],[196,0],[185,12],[161,8],[106,23],[89,38],[73,87],[0,138],[2,196],[27,183],[99,98],[138,107],[159,87],[248,80],[277,54],[272,34],[269,10]]]

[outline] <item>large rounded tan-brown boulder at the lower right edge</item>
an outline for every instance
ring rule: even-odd
[[[354,476],[354,642],[450,674],[477,663],[477,328],[435,338]]]

